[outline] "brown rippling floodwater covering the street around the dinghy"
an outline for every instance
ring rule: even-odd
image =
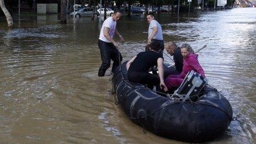
[[[207,45],[199,52],[201,66],[237,118],[211,142],[255,143],[256,8],[180,17],[156,16],[164,41],[194,50]],[[20,25],[16,19],[8,30],[1,18],[0,143],[182,143],[144,134],[114,104],[111,77],[98,77],[102,23],[71,18],[61,25],[57,15],[22,15]],[[118,30],[126,41],[120,44],[124,60],[144,50],[144,15],[122,17]]]

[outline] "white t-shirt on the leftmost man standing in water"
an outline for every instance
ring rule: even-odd
[[[112,17],[107,18],[102,24],[102,29],[100,30],[99,39],[105,42],[110,42],[104,36],[104,27],[109,28],[109,35],[111,36],[111,38],[113,38],[115,35],[115,26],[116,26],[116,21],[114,21]]]

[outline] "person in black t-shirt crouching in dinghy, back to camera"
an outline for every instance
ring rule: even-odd
[[[159,42],[152,41],[149,44],[150,51],[143,51],[138,53],[126,64],[127,76],[129,81],[138,82],[141,84],[147,84],[149,88],[153,86],[159,86],[167,91],[166,84],[164,84],[163,78],[163,56],[159,54],[160,44]],[[148,70],[153,66],[158,66],[158,74],[148,73]]]

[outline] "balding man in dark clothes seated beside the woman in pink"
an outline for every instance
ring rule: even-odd
[[[175,68],[167,68],[164,70],[164,77],[168,77],[170,74],[180,74],[183,68],[183,56],[178,47],[173,41],[167,42],[164,46],[167,53],[173,56]]]

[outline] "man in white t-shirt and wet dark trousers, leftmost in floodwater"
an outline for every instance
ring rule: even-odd
[[[113,40],[114,35],[118,35],[121,41],[124,41],[118,30],[116,30],[116,21],[121,17],[121,12],[115,10],[114,14],[107,18],[100,30],[98,46],[100,49],[100,56],[102,58],[102,65],[99,68],[98,76],[104,77],[106,70],[110,67],[111,60],[114,61],[111,72],[114,72],[122,61],[120,51],[116,49],[118,44]]]

